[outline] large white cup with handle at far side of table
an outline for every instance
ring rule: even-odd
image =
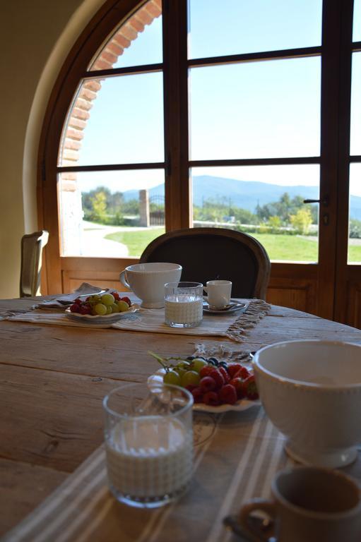
[[[178,263],[136,263],[129,265],[119,275],[126,288],[141,299],[141,306],[162,308],[165,305],[164,285],[179,282],[182,265]]]

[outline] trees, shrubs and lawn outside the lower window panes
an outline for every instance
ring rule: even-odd
[[[236,181],[241,182],[241,181]],[[258,183],[260,184],[260,183]],[[219,186],[219,185],[218,185]],[[156,187],[158,188],[158,187]],[[163,188],[161,186],[161,188]],[[278,190],[279,190],[278,186]],[[302,187],[303,188],[303,187]],[[164,190],[164,188],[163,188]],[[151,193],[152,189],[150,189]],[[105,186],[82,193],[84,220],[104,226],[119,226],[105,233],[104,239],[128,248],[129,256],[139,256],[144,248],[164,233],[164,196],[150,198],[150,227],[140,228],[139,200],[136,191],[111,192]],[[278,200],[257,204],[254,212],[239,207],[230,195],[202,196],[194,203],[194,226],[228,227],[258,239],[271,260],[316,262],[318,260],[318,205],[305,205],[309,195],[283,192]],[[358,199],[358,198],[357,198]],[[195,198],[196,200],[196,198]],[[237,203],[239,198],[237,200]],[[152,224],[152,217],[157,220]],[[115,230],[115,231],[114,231]],[[351,218],[348,260],[361,261],[361,220]]]

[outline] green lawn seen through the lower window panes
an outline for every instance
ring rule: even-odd
[[[130,256],[140,256],[144,248],[155,237],[164,233],[164,228],[138,231],[117,231],[108,234],[105,239],[124,243],[129,248]],[[271,260],[296,262],[316,262],[318,243],[295,235],[254,234],[254,237],[266,248]],[[348,260],[361,262],[361,246],[350,246]]]

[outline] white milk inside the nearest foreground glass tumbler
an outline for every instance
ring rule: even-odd
[[[177,494],[192,473],[193,439],[182,421],[140,416],[117,423],[106,442],[112,489],[143,500]]]

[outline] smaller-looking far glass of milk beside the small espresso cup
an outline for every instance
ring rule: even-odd
[[[165,323],[170,327],[196,327],[203,319],[203,284],[165,284]]]

